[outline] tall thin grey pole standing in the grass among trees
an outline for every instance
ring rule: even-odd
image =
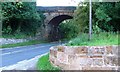
[[[92,38],[92,1],[89,0],[89,40]]]

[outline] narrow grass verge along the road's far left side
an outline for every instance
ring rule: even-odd
[[[34,45],[34,44],[40,44],[40,43],[46,43],[46,41],[30,40],[27,42],[21,42],[21,43],[15,43],[15,44],[4,44],[0,48],[13,48],[17,46],[27,46],[27,45]]]

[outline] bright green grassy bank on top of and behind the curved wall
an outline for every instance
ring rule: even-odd
[[[96,46],[96,45],[120,45],[120,34],[102,32],[92,34],[92,40],[88,41],[88,34],[81,34],[67,43],[67,46]]]

